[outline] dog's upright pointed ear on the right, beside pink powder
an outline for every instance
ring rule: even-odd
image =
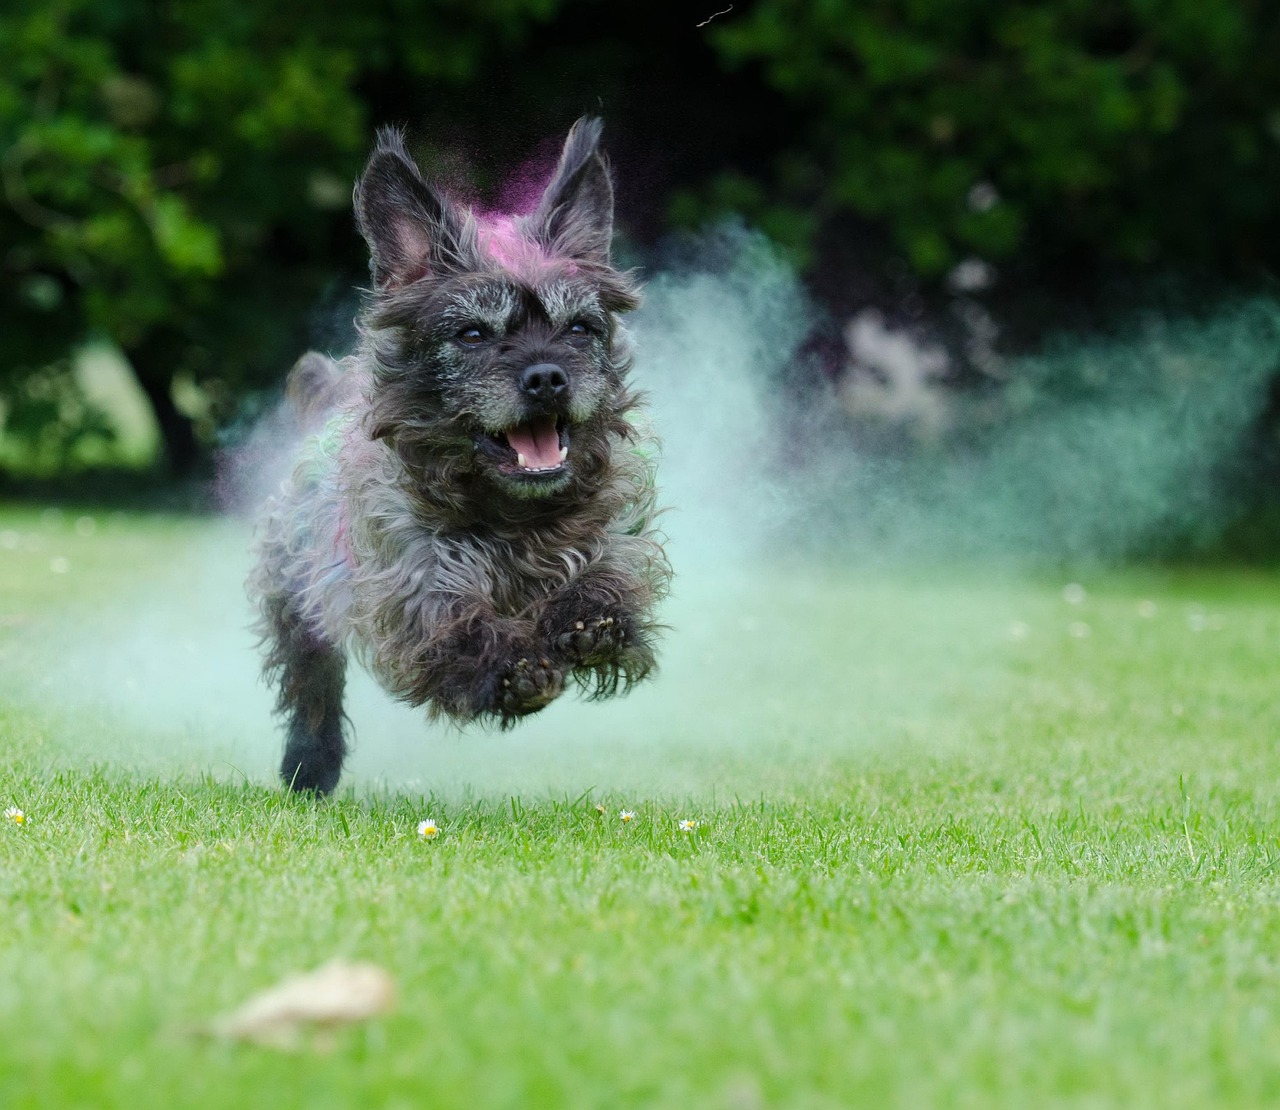
[[[613,183],[599,151],[599,119],[584,115],[570,128],[559,165],[531,223],[557,253],[608,264],[613,239]]]

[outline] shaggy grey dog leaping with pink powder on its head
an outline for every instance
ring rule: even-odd
[[[671,571],[599,136],[573,125],[520,216],[457,204],[378,136],[355,195],[361,343],[289,376],[314,434],[250,579],[296,790],[338,782],[348,654],[430,717],[503,726],[568,680],[600,698],[653,670]]]

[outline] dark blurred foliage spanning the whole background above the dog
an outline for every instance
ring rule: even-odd
[[[1270,280],[1280,6],[724,8],[13,0],[6,434],[55,460],[108,435],[69,373],[106,339],[155,411],[169,471],[198,471],[246,398],[306,344],[340,342],[332,320],[364,280],[349,188],[381,123],[406,124],[457,188],[500,200],[513,164],[548,159],[573,118],[600,113],[635,252],[740,214],[835,320],[868,303],[923,316],[975,261],[1001,280],[972,296],[1030,332],[1070,306],[1088,319],[1100,288],[1172,275],[1217,296]],[[183,411],[177,383],[206,410]]]

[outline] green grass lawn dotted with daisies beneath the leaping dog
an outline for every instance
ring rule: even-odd
[[[1280,577],[676,552],[649,689],[468,736],[357,686],[316,805],[243,548],[0,512],[0,1105],[1280,1101]],[[339,955],[392,1014],[196,1032]]]

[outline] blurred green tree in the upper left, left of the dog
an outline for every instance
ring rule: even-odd
[[[102,337],[150,399],[170,469],[191,472],[198,443],[175,382],[225,411],[276,379],[335,260],[357,257],[362,86],[388,74],[465,86],[554,4],[6,4],[0,397],[10,412],[52,411],[22,403],[32,375],[56,375],[77,344]]]

